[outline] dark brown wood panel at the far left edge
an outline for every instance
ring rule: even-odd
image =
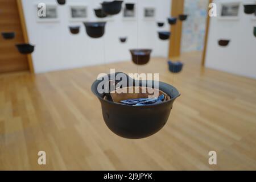
[[[24,43],[22,24],[16,0],[0,0],[0,32],[15,32],[15,38],[5,40],[0,37],[0,73],[28,70],[28,59],[15,47]]]

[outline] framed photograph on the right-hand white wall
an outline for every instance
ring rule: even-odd
[[[220,5],[219,19],[238,20],[240,11],[240,2],[225,2]]]

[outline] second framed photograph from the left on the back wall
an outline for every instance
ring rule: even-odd
[[[71,21],[84,21],[88,18],[88,9],[85,5],[70,5],[69,18]]]

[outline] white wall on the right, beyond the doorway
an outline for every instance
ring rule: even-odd
[[[243,4],[256,1],[215,0],[213,2],[217,4],[218,16],[210,18],[205,66],[256,78],[256,38],[253,35],[256,16],[243,13]],[[221,3],[226,2],[240,2],[237,18],[220,17]],[[229,45],[218,46],[219,39],[230,39]]]

